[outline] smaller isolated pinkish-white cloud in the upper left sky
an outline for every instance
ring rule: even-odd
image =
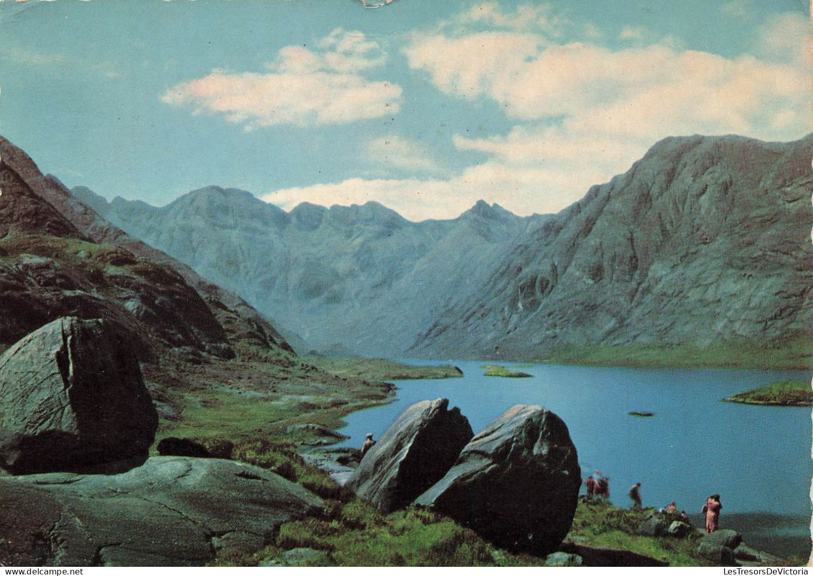
[[[386,55],[375,41],[337,28],[317,47],[286,46],[267,64],[271,72],[214,71],[173,86],[161,100],[193,106],[195,114],[224,114],[246,130],[276,124],[346,124],[398,112],[399,85],[359,75],[385,63]]]

